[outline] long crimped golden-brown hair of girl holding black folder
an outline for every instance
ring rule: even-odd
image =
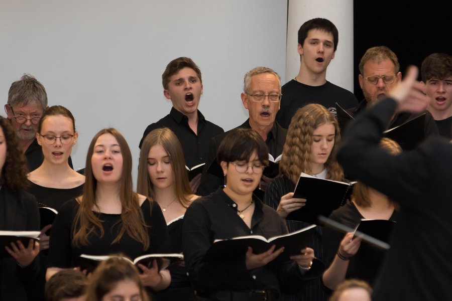
[[[311,174],[312,133],[322,124],[334,125],[334,146],[326,160],[327,179],[342,181],[344,172],[336,162],[337,143],[341,140],[341,131],[336,118],[322,105],[311,103],[298,109],[290,121],[286,143],[279,171],[293,183],[297,183],[300,174]]]

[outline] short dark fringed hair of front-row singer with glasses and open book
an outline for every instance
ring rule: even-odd
[[[262,137],[251,128],[235,128],[230,130],[218,146],[218,163],[249,161],[256,152],[259,161],[268,165],[268,147]]]

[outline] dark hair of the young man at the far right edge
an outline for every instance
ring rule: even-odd
[[[421,77],[425,83],[432,78],[443,80],[452,76],[452,56],[445,53],[432,53],[421,65]]]

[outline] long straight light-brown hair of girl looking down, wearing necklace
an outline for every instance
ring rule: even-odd
[[[174,132],[167,128],[157,128],[151,131],[143,140],[140,150],[140,161],[138,164],[137,192],[155,199],[154,185],[148,173],[148,154],[154,145],[162,145],[168,154],[175,178],[176,195],[183,207],[190,206],[191,201],[187,199],[193,191],[188,183],[187,170],[185,168],[184,153],[182,145]]]

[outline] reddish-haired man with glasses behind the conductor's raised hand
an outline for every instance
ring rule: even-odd
[[[361,58],[359,64],[360,74],[358,75],[361,89],[363,90],[364,100],[356,107],[347,110],[347,113],[355,117],[360,112],[373,106],[379,100],[388,95],[388,91],[402,79],[402,73],[399,71],[399,60],[395,53],[386,46],[377,46],[369,48]],[[424,111],[425,122],[423,132],[412,133],[424,138],[431,135],[438,135],[438,129],[434,123],[432,115]],[[411,114],[408,112],[396,113],[389,123],[388,128],[393,128],[409,121],[420,114]],[[338,112],[338,121],[341,129],[346,129],[347,123],[351,120],[342,117]]]

